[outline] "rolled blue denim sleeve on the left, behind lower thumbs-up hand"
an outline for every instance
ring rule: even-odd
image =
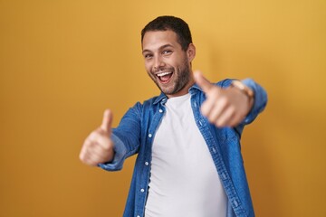
[[[121,118],[119,126],[112,129],[114,157],[110,162],[99,164],[102,169],[121,170],[125,159],[138,152],[141,131],[140,110],[141,104],[137,103]]]

